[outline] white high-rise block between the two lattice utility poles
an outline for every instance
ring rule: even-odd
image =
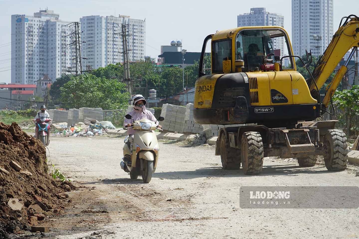
[[[121,24],[127,24],[129,61],[144,60],[146,22],[130,16],[83,16],[81,23],[81,57],[88,58],[83,67],[93,69],[123,62]]]

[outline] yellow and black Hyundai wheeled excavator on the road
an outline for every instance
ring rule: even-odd
[[[209,40],[211,73],[206,75],[203,62]],[[297,158],[299,166],[314,166],[322,155],[329,171],[345,169],[345,133],[335,129],[336,120],[313,120],[328,112],[358,47],[356,15],[342,18],[313,72],[308,69],[311,52],[306,51],[308,64],[294,56],[288,33],[281,27],[238,27],[208,35],[195,84],[194,118],[199,124],[241,124],[219,130],[215,154],[221,156],[223,168],[239,169],[242,164],[245,174],[258,174],[264,157]],[[351,48],[321,99],[319,90]],[[297,72],[297,58],[310,78]]]

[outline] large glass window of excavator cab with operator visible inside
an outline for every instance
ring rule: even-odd
[[[244,60],[244,71],[264,68],[264,59],[272,59],[270,64],[280,63],[280,58],[290,52],[285,34],[280,29],[246,29],[236,37],[236,59]],[[286,47],[286,48],[285,48]],[[289,58],[286,67],[292,68]]]

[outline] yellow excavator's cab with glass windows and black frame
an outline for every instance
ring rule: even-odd
[[[247,27],[222,32],[209,35],[202,48],[205,49],[208,39],[212,38],[212,74],[282,69],[295,71],[293,58],[285,58],[284,66],[281,63],[282,57],[292,53],[284,29]],[[204,75],[201,67],[199,74]]]

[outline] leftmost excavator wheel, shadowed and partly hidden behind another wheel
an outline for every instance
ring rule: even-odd
[[[239,169],[241,167],[241,152],[230,148],[227,138],[221,135],[221,161],[223,169]]]

